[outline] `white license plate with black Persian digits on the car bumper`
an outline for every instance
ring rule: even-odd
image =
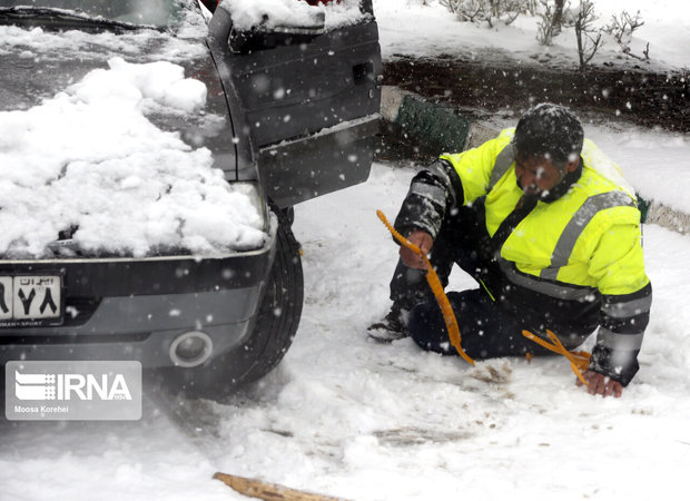
[[[62,323],[60,275],[0,275],[0,326]]]

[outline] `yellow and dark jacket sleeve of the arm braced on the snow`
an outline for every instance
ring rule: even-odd
[[[590,369],[627,386],[639,370],[638,354],[652,303],[639,225],[615,225],[607,230],[590,268],[599,276],[602,296]]]

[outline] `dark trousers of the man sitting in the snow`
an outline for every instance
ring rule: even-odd
[[[446,216],[430,257],[444,287],[453,264],[481,284],[476,289],[447,294],[460,326],[462,347],[477,360],[524,355],[528,352],[550,353],[525,338],[522,330],[530,326],[494,301],[501,289],[501,272],[491,256],[484,220],[481,200],[473,207],[462,207]],[[398,262],[391,282],[391,298],[411,311],[410,334],[422,348],[456,354],[425,275],[426,272],[408,268]]]

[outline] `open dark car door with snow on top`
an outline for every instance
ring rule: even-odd
[[[372,1],[326,3],[225,0],[209,22],[235,130],[252,141],[237,145],[238,175],[258,161],[279,207],[371,170],[382,82]]]

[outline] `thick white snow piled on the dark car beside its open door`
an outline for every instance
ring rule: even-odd
[[[77,228],[86,254],[210,255],[259,247],[250,194],[145,115],[200,110],[206,86],[170,62],[109,60],[39,106],[0,112],[0,254],[41,257]]]

